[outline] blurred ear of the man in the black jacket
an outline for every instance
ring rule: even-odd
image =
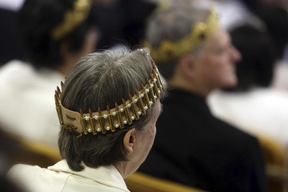
[[[191,79],[195,71],[195,56],[192,54],[184,54],[178,59],[178,66],[185,78]]]

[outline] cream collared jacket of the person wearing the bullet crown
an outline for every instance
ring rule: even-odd
[[[70,170],[65,160],[47,169],[18,164],[9,170],[7,176],[28,192],[129,192],[113,165],[98,168],[85,166],[85,170],[75,172]]]

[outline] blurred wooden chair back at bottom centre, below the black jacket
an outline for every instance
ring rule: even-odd
[[[131,192],[205,192],[177,182],[135,172],[125,179]]]

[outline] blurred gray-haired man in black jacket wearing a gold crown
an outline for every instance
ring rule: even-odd
[[[267,191],[257,139],[212,116],[205,101],[237,84],[241,59],[217,11],[171,8],[146,30],[145,46],[171,90],[140,171],[207,191]]]

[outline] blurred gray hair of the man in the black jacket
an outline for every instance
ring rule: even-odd
[[[175,42],[188,35],[198,22],[205,21],[209,15],[210,11],[208,9],[196,9],[189,4],[186,4],[186,7],[181,5],[180,7],[156,12],[147,20],[145,40],[152,47],[159,46],[163,40]],[[198,54],[199,50],[202,50],[202,45],[191,50],[191,53]],[[157,63],[161,74],[166,79],[173,76],[176,62],[177,58]]]

